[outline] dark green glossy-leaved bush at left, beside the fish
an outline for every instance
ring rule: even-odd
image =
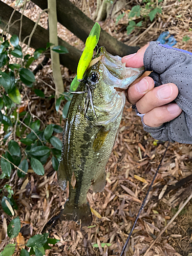
[[[27,112],[20,106],[26,90],[32,90],[37,96],[45,98],[44,92],[34,88],[35,76],[29,67],[53,44],[48,43],[47,48],[39,48],[33,55],[29,55],[22,51],[17,35],[13,35],[10,40],[0,39],[0,130],[5,144],[0,163],[0,179],[5,179],[5,185],[0,192],[4,211],[14,216],[17,205],[8,183],[12,170],[17,168],[18,177],[24,178],[31,166],[37,175],[44,175],[43,165],[49,157],[52,159],[53,168],[57,170],[62,143],[55,135],[62,132],[62,127],[49,124],[42,129],[40,120],[35,120],[30,111]],[[62,46],[53,47],[52,50],[61,54],[68,52]],[[61,100],[67,100],[63,108],[63,118],[66,118],[71,94],[63,93],[57,100],[57,111]]]

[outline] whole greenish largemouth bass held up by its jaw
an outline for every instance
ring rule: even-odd
[[[122,118],[124,89],[144,72],[144,68],[126,68],[121,57],[107,53],[104,47],[96,57],[69,106],[57,176],[63,190],[69,181],[69,198],[60,219],[81,225],[92,222],[87,201],[91,185],[94,192],[105,186],[105,165]]]

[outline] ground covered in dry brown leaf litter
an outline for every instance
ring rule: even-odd
[[[14,7],[16,1],[3,2]],[[72,2],[93,18],[96,0]],[[101,28],[127,45],[140,47],[148,41],[157,40],[163,31],[169,31],[177,40],[174,47],[192,51],[191,1],[162,1],[160,3],[162,13],[157,14],[153,22],[150,20],[144,22],[142,27],[131,35],[126,34],[127,15],[124,15],[117,25],[116,17],[122,12],[129,13],[131,8],[141,4],[141,1],[125,2],[126,6],[114,13],[110,22],[109,20],[99,22]],[[40,9],[30,1],[28,5],[29,8],[24,14],[36,20]],[[47,28],[46,13],[42,14],[39,25]],[[58,35],[78,49],[83,49],[83,42],[60,24],[58,24]],[[184,41],[183,38],[186,36],[190,39]],[[69,90],[75,74],[64,67],[61,71],[65,89]],[[29,91],[32,113],[45,124],[60,124],[62,108],[57,113],[54,100],[47,99],[54,93],[46,86],[46,83],[53,86],[50,61],[42,71],[38,72],[36,80],[36,89],[44,90],[46,98],[34,97]],[[65,120],[61,120],[61,125],[64,124]],[[57,137],[61,139],[61,134]],[[101,193],[95,194],[91,189],[88,193],[88,201],[93,209],[92,225],[80,228],[74,222],[58,222],[51,229],[50,237],[59,239],[60,242],[51,250],[46,250],[46,255],[120,255],[166,145],[167,142],[155,141],[150,134],[143,131],[140,118],[135,115],[130,104],[126,103],[119,135],[106,165],[106,186]],[[191,194],[191,148],[189,144],[169,144],[153,188],[127,246],[126,256],[143,255]],[[186,177],[188,178],[184,180]],[[22,234],[27,241],[30,236],[41,233],[46,223],[60,212],[67,199],[67,191],[61,191],[58,187],[57,174],[50,159],[45,164],[45,176],[29,173],[23,180],[14,172],[10,184],[14,189],[14,199],[19,206],[17,215],[22,221]],[[9,224],[11,217],[2,209],[0,216],[0,225],[4,219]],[[192,253],[191,242],[192,205],[189,202],[147,256],[189,256],[191,255],[189,253]],[[102,243],[109,243],[110,246],[103,247]]]

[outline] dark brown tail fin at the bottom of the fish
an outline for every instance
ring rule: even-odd
[[[74,205],[67,201],[61,211],[60,220],[76,221],[81,226],[91,225],[93,217],[89,203]]]

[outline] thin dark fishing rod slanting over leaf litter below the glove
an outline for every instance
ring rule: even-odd
[[[127,247],[127,244],[128,244],[129,241],[130,241],[130,238],[131,238],[131,236],[132,236],[133,230],[134,230],[135,225],[136,225],[136,223],[137,223],[137,221],[138,221],[138,219],[139,219],[139,216],[140,216],[141,211],[142,211],[142,209],[143,209],[143,207],[144,207],[144,204],[145,204],[145,202],[146,202],[146,199],[147,199],[147,197],[148,197],[148,194],[150,193],[150,190],[152,189],[153,183],[154,183],[155,178],[156,178],[156,176],[157,176],[157,174],[158,174],[158,172],[159,172],[159,169],[160,169],[160,167],[161,167],[162,161],[163,161],[163,159],[164,159],[164,157],[165,157],[165,154],[166,154],[166,152],[167,152],[168,146],[169,146],[169,142],[168,142],[168,144],[167,144],[167,146],[166,146],[166,149],[165,149],[164,154],[163,154],[163,156],[162,156],[162,158],[161,158],[161,161],[160,161],[160,163],[159,163],[159,165],[158,165],[158,167],[157,167],[157,170],[156,170],[156,173],[155,173],[155,175],[154,175],[154,177],[153,177],[152,183],[151,183],[150,187],[148,188],[148,191],[147,191],[147,193],[146,193],[146,196],[145,196],[145,198],[144,198],[144,200],[143,200],[143,202],[142,202],[142,204],[141,204],[141,207],[140,207],[140,209],[139,209],[137,218],[136,218],[136,220],[135,220],[135,222],[134,222],[134,224],[133,224],[133,227],[132,227],[132,229],[131,229],[131,231],[130,231],[130,233],[129,233],[129,236],[128,236],[127,239],[126,239],[126,242],[125,242],[125,244],[124,244],[124,246],[123,246],[123,249],[122,249],[122,251],[121,251],[120,256],[123,256],[123,253],[125,252],[125,249],[126,249],[126,247]]]

